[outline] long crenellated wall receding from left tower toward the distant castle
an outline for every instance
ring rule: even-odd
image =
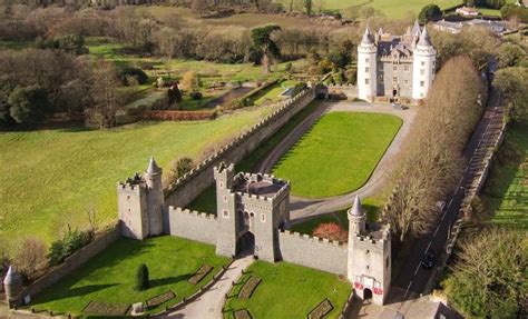
[[[273,136],[294,114],[304,109],[315,99],[316,88],[310,88],[289,99],[283,106],[235,140],[224,146],[218,152],[198,163],[192,171],[176,180],[165,190],[165,203],[174,207],[185,207],[202,191],[214,182],[213,167],[221,161],[238,162],[255,150],[258,144]],[[166,229],[166,231],[168,231]]]

